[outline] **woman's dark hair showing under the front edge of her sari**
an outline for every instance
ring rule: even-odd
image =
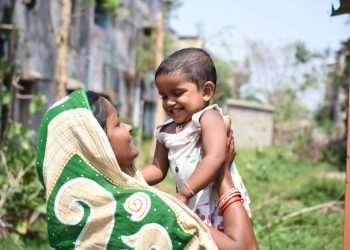
[[[103,130],[106,130],[106,122],[107,122],[107,107],[106,101],[99,94],[87,90],[86,95],[91,107],[91,111],[95,116],[98,123],[101,125]]]

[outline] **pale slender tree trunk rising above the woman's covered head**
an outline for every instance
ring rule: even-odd
[[[56,100],[66,96],[68,36],[71,23],[71,0],[61,0],[61,27],[56,36]]]

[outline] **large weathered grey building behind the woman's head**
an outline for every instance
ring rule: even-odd
[[[56,101],[55,73],[62,63],[62,44],[67,46],[63,55],[66,93],[80,88],[98,92],[109,97],[129,121],[148,112],[141,107],[141,93],[152,71],[140,73],[137,52],[146,37],[154,36],[157,17],[167,16],[171,1],[120,0],[109,8],[104,0],[5,2],[0,5],[0,17],[11,9],[17,34],[13,59],[19,72],[14,100],[16,121],[28,122],[28,104],[37,93],[42,92],[47,99],[44,110]],[[63,2],[69,5],[70,12],[64,12]],[[60,36],[63,20],[69,23],[66,41]],[[155,64],[149,68],[154,70]],[[149,95],[145,98],[145,102],[150,100]],[[41,114],[32,119],[33,128],[40,117]],[[136,119],[136,125],[141,119]]]

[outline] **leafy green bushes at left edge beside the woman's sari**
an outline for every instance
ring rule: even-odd
[[[45,103],[43,95],[30,104],[32,114]],[[10,123],[0,151],[0,219],[2,235],[22,248],[26,237],[45,235],[45,194],[35,169],[36,134],[20,123]]]

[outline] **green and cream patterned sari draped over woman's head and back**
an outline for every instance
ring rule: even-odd
[[[148,186],[134,166],[121,171],[86,90],[42,118],[36,166],[54,249],[216,249],[186,206]]]

